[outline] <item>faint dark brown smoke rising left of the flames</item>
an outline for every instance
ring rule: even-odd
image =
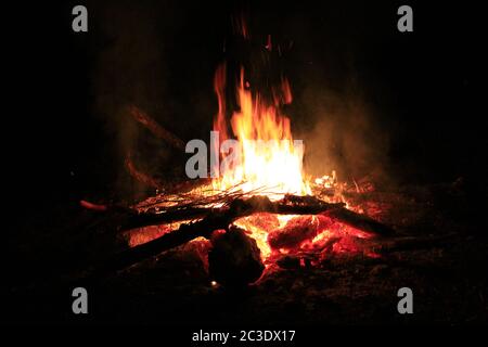
[[[142,172],[171,175],[174,149],[130,116],[130,106],[147,113],[171,131],[181,114],[168,97],[168,46],[178,29],[177,9],[154,1],[108,1],[89,5],[95,31],[93,68],[94,112],[104,124],[107,153],[113,156],[114,182],[120,196],[136,197],[147,187],[132,179],[125,168],[130,155]],[[169,11],[168,11],[169,10]],[[165,24],[169,28],[165,28]],[[178,129],[175,131],[178,133]]]

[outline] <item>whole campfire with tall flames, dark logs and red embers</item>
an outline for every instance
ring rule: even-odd
[[[269,38],[266,50],[271,49]],[[191,242],[198,244],[211,283],[234,286],[259,283],[286,264],[321,267],[341,254],[378,257],[374,240],[393,230],[349,198],[371,188],[342,182],[332,169],[322,177],[306,175],[306,140],[293,138],[291,119],[282,111],[293,101],[288,80],[282,76],[279,86],[262,93],[241,67],[233,90],[239,110],[229,121],[227,80],[227,66],[221,64],[214,80],[218,113],[210,132],[209,170],[202,140],[185,145],[145,112],[129,107],[154,136],[194,154],[187,163],[193,180],[166,187],[129,207],[82,202],[88,208],[128,216],[120,229],[129,248],[100,268],[123,269]],[[130,155],[126,164],[136,179],[160,188],[137,170]]]

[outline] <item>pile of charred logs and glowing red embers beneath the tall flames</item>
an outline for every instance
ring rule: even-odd
[[[97,271],[120,270],[193,241],[203,245],[211,279],[229,285],[247,284],[293,259],[320,266],[333,253],[375,257],[370,239],[394,233],[343,203],[313,196],[285,195],[273,202],[267,196],[234,193],[184,201],[193,194],[179,195],[180,201],[171,206],[168,196],[160,194],[131,208],[112,207],[127,217],[120,230],[126,230],[131,247]]]

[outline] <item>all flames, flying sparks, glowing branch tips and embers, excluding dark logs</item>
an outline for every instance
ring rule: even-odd
[[[240,37],[245,40],[249,39],[249,31],[243,16],[234,18],[233,27]],[[273,48],[278,49],[281,54],[280,46],[273,44],[271,36],[268,36],[265,49],[271,52]],[[157,214],[159,207],[178,206],[185,198],[211,196],[216,192],[222,191],[239,190],[246,196],[266,195],[270,200],[281,200],[284,194],[312,195],[313,190],[314,195],[320,200],[331,203],[343,202],[346,203],[347,208],[362,213],[362,205],[351,206],[345,200],[343,192],[348,191],[347,183],[338,182],[335,171],[318,177],[313,181],[306,178],[303,167],[303,142],[293,139],[290,118],[283,114],[281,107],[293,101],[292,88],[284,76],[281,76],[278,86],[270,86],[269,91],[260,93],[252,88],[245,78],[244,68],[241,68],[240,79],[235,85],[239,111],[233,112],[229,124],[227,121],[229,113],[226,102],[227,88],[227,66],[221,64],[214,78],[214,90],[218,100],[214,130],[218,133],[218,141],[211,141],[215,134],[213,133],[210,136],[214,151],[210,158],[213,190],[208,189],[209,187],[205,183],[205,185],[194,188],[185,193],[187,197],[183,196],[184,194],[162,194],[165,195],[163,200],[160,196],[156,196],[138,204],[136,208],[139,211],[153,210]],[[270,95],[270,100],[266,100],[264,95]],[[145,114],[132,110],[132,115],[154,133],[169,138],[176,146],[181,146],[178,139],[169,137]],[[223,154],[230,154],[226,146],[221,147],[220,144],[231,138],[236,139],[239,143],[239,153],[232,153],[233,155],[237,154],[237,160],[233,162],[233,165],[220,166],[220,158]],[[232,147],[232,151],[236,150]],[[218,154],[217,160],[215,153]],[[159,185],[158,182],[137,171],[130,160],[130,155],[126,164],[139,180],[153,187]],[[364,187],[361,182],[358,184],[354,181],[354,183],[356,193],[374,190],[371,184]],[[223,205],[222,202],[216,203],[213,200],[208,200],[204,204],[215,208]],[[84,201],[81,205],[97,210],[106,209],[103,205]],[[382,208],[376,206],[367,207],[370,210],[374,209],[375,214],[382,211]],[[129,246],[133,247],[174,232],[181,224],[194,220],[138,228],[128,231],[125,236]],[[273,271],[277,265],[279,267],[286,266],[286,259],[292,259],[292,264],[296,264],[295,260],[298,260],[300,267],[309,267],[320,266],[323,260],[330,260],[333,255],[362,253],[369,257],[380,256],[373,249],[369,249],[368,245],[364,246],[367,243],[363,240],[371,237],[371,234],[334,221],[325,215],[298,216],[255,213],[234,220],[232,224],[243,229],[249,237],[256,241],[266,267],[262,277],[267,271]],[[226,232],[226,230],[215,230],[213,235],[221,232]],[[208,270],[207,255],[211,247],[211,241],[197,237],[188,245],[194,247],[193,249],[202,259],[205,269]],[[210,286],[218,287],[219,284],[213,280]]]

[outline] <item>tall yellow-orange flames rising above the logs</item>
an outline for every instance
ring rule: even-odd
[[[234,112],[230,120],[240,144],[240,160],[220,169],[220,176],[213,181],[214,189],[226,191],[239,185],[244,193],[260,191],[257,194],[271,200],[284,194],[311,194],[310,184],[304,178],[303,142],[293,140],[290,118],[278,107],[280,103],[292,101],[288,81],[283,78],[280,88],[272,89],[273,103],[267,103],[248,86],[242,68],[236,86],[240,111]],[[217,69],[214,87],[219,104],[214,129],[226,139],[224,65]]]

